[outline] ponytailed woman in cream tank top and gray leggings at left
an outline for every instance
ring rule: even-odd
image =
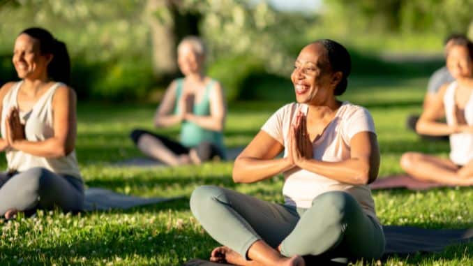
[[[0,89],[0,215],[59,207],[79,211],[84,189],[75,157],[76,96],[66,83],[66,45],[45,29],[30,28],[15,40],[13,64],[20,82]]]

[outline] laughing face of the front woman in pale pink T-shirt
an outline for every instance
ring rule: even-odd
[[[333,96],[337,82],[326,55],[325,48],[313,43],[304,47],[294,63],[291,75],[298,103],[324,103]]]

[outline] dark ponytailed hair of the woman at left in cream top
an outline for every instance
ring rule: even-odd
[[[40,43],[42,54],[52,54],[52,60],[47,65],[47,75],[52,80],[69,84],[70,59],[66,44],[56,40],[49,31],[42,28],[29,28],[20,34],[28,34]]]

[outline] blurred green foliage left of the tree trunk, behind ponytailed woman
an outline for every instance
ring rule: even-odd
[[[16,79],[16,74],[10,74],[14,73],[11,55],[15,36],[27,27],[38,26],[68,45],[72,86],[80,98],[144,98],[153,79],[148,28],[140,16],[144,1],[10,3],[0,8],[0,82]]]

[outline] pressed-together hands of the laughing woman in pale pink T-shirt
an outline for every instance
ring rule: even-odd
[[[307,131],[306,115],[299,110],[289,129],[287,160],[293,166],[301,167],[301,163],[313,156],[313,145]]]

